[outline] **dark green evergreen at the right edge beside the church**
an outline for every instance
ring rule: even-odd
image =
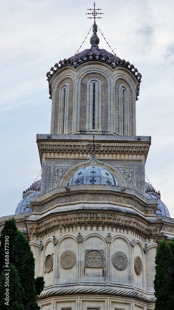
[[[174,310],[174,292],[172,290],[174,257],[165,240],[162,240],[159,245],[155,264],[155,310]]]

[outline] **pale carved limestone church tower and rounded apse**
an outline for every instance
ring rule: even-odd
[[[140,74],[95,43],[68,61],[47,74],[52,116],[50,135],[37,135],[41,195],[30,197],[31,213],[15,215],[36,276],[45,278],[38,303],[42,310],[153,310],[156,249],[174,235],[174,219],[156,215],[157,196],[145,196],[151,137],[136,136]],[[86,167],[109,171],[118,185],[96,184],[95,170],[80,183]]]

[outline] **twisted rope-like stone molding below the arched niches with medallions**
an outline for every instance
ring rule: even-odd
[[[124,296],[129,298],[136,298],[148,303],[155,301],[154,296],[149,296],[136,290],[121,289],[109,286],[69,286],[69,287],[56,287],[53,289],[42,291],[38,299],[44,299],[57,295],[71,295],[71,294],[97,294],[97,295],[112,295]]]

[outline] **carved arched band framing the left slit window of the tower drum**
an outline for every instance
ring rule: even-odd
[[[70,95],[69,95],[69,111],[68,111],[68,131],[72,131],[72,122],[73,122],[73,93],[74,93],[74,83],[71,78],[64,79],[57,88],[56,95],[56,107],[55,107],[55,124],[54,124],[54,133],[57,134],[58,131],[58,119],[59,119],[59,97],[60,89],[64,84],[69,84],[70,86]]]

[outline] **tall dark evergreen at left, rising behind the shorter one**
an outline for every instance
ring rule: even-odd
[[[26,237],[23,236],[16,226],[15,219],[9,219],[5,221],[4,227],[1,232],[0,241],[0,272],[4,269],[5,262],[5,236],[9,236],[9,261],[13,263],[18,275],[20,277],[20,283],[23,287],[23,293],[21,296],[22,304],[25,310],[39,310],[37,300],[37,292],[41,291],[44,287],[43,279],[40,280],[39,290],[35,284],[35,259],[30,247],[30,244]],[[37,280],[38,281],[38,280]],[[42,281],[42,285],[41,285]],[[1,308],[0,308],[1,309]],[[14,308],[16,310],[17,308]],[[22,308],[21,308],[22,309]]]

